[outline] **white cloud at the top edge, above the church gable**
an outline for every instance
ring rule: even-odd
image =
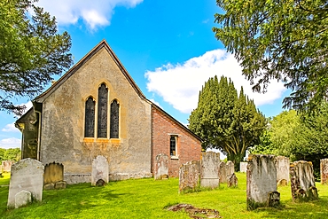
[[[75,24],[83,20],[90,29],[110,25],[116,6],[135,7],[143,0],[40,0],[42,6],[51,16],[55,16],[59,25]]]

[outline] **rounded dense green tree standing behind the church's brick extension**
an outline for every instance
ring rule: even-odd
[[[254,101],[239,96],[233,82],[226,77],[210,78],[199,91],[199,104],[191,112],[189,128],[203,138],[203,147],[214,147],[226,153],[236,167],[246,149],[258,144],[265,118]]]

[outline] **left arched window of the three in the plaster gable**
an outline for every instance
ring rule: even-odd
[[[85,101],[84,137],[95,137],[95,105],[91,97]]]

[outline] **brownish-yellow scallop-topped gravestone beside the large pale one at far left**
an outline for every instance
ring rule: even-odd
[[[53,162],[44,166],[43,188],[45,190],[66,188],[63,164]]]

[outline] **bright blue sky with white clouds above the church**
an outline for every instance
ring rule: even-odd
[[[184,125],[202,85],[215,75],[230,77],[237,90],[243,86],[266,117],[283,111],[289,94],[283,83],[272,81],[267,93],[254,93],[238,61],[216,40],[214,15],[223,11],[215,0],[39,0],[38,5],[56,17],[59,33],[71,35],[74,64],[105,39],[144,95]],[[30,100],[14,102],[29,108]],[[20,147],[18,118],[1,111],[0,116],[0,147]]]

